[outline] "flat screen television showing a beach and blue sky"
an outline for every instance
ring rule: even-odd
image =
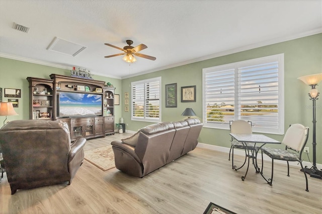
[[[102,94],[57,93],[57,117],[102,116]]]

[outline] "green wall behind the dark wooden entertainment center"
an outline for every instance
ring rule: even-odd
[[[21,89],[21,98],[18,98],[19,107],[15,108],[19,116],[8,116],[8,121],[29,119],[29,82],[26,78],[31,76],[50,79],[49,75],[52,73],[70,76],[70,70],[0,57],[0,87],[3,88],[3,101],[8,101],[8,98],[4,97],[5,88]],[[115,93],[121,93],[120,79],[98,75],[93,75],[93,79],[111,82],[116,87]],[[116,105],[116,121],[119,121],[121,114],[121,105]],[[4,120],[5,117],[0,117],[0,127],[3,126]]]

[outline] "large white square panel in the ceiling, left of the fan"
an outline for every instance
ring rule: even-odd
[[[83,51],[86,47],[72,42],[55,37],[49,44],[47,50],[55,51],[69,56],[76,56],[79,52]]]

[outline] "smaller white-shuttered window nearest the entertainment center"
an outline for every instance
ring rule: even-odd
[[[132,82],[131,88],[131,120],[160,122],[161,77]]]

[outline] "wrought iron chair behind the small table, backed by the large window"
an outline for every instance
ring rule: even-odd
[[[250,121],[244,121],[244,120],[229,121],[229,127],[230,127],[230,133],[234,133],[234,134],[252,134],[253,133],[252,122],[250,122]],[[246,144],[237,142],[233,138],[231,138],[231,146],[230,146],[230,150],[229,150],[228,160],[230,160],[230,152],[232,151],[232,156],[231,156],[232,157],[232,160],[231,160],[232,169],[238,170],[245,165],[246,160],[247,160],[247,156],[248,156],[247,150],[251,151],[252,157],[255,157],[255,152],[259,148],[260,147],[256,146],[254,143],[247,143],[247,147],[246,147]],[[245,161],[244,161],[243,165],[241,165],[238,168],[235,165],[233,165],[233,150],[234,149],[244,149],[245,150]],[[254,158],[253,158],[253,164],[254,164]]]

